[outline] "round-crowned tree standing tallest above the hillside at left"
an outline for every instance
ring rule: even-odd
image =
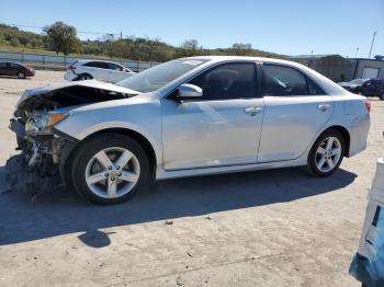
[[[68,55],[76,51],[79,47],[79,38],[77,37],[76,27],[65,24],[64,22],[56,22],[43,28],[46,33],[46,44],[49,49],[59,54]]]

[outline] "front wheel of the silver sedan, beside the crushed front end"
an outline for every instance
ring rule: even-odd
[[[75,190],[94,204],[131,199],[148,182],[148,175],[144,149],[118,134],[104,134],[83,142],[71,164]]]

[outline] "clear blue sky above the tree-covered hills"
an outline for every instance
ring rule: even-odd
[[[0,0],[0,23],[41,27],[63,21],[78,32],[197,39],[206,48],[250,43],[283,55],[384,55],[384,0]],[[22,30],[41,32],[39,28]],[[78,33],[82,39],[101,34]]]

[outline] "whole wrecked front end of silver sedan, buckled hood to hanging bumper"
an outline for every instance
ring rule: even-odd
[[[135,91],[95,80],[26,90],[16,104],[10,129],[16,134],[21,153],[7,161],[11,191],[41,192],[63,185],[66,159],[77,139],[55,125],[78,106],[135,95]]]

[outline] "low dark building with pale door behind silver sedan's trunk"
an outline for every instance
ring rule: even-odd
[[[290,60],[303,64],[335,82],[353,79],[384,79],[384,59],[345,58],[340,55],[298,55]]]

